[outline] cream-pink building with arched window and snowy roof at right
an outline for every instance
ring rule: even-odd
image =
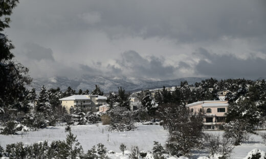
[[[198,101],[186,105],[191,112],[204,112],[204,129],[221,129],[226,121],[225,113],[228,111],[228,101],[208,100]]]

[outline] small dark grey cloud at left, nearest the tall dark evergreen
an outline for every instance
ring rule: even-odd
[[[53,51],[51,48],[45,48],[35,43],[26,43],[25,54],[29,59],[34,60],[51,60],[54,61]]]

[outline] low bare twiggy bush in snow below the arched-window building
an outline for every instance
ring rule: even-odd
[[[234,149],[234,142],[231,138],[220,135],[205,134],[204,147],[208,150],[211,157],[219,156],[219,159],[229,158]]]

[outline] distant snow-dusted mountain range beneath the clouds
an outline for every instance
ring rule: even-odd
[[[176,80],[156,81],[153,79],[134,78],[134,77],[104,77],[104,76],[90,76],[82,75],[81,77],[68,78],[68,77],[51,77],[51,78],[37,78],[33,79],[31,86],[28,89],[35,88],[38,92],[42,85],[47,88],[57,88],[65,90],[69,86],[75,90],[86,90],[90,92],[95,89],[95,85],[100,86],[100,89],[105,93],[109,91],[117,91],[118,87],[124,88],[126,91],[138,91],[144,89],[156,89],[172,86],[179,86],[181,81],[187,81],[188,84],[201,82],[206,78],[201,77],[187,77],[178,78]]]

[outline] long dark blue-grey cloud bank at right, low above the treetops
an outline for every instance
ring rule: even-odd
[[[266,60],[249,57],[239,59],[232,54],[215,55],[208,50],[200,48],[198,55],[206,60],[200,60],[195,66],[198,73],[217,77],[260,77],[266,74]]]

